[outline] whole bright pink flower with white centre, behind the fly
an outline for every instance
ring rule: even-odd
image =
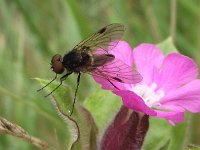
[[[200,112],[198,68],[189,57],[179,53],[164,56],[153,44],[140,44],[132,50],[120,41],[109,51],[127,65],[135,67],[143,80],[136,84],[114,82],[93,76],[103,89],[122,97],[123,104],[137,112],[165,118],[170,124],[184,120],[184,111]]]

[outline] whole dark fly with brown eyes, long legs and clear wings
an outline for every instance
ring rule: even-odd
[[[72,115],[82,73],[104,78],[116,89],[118,88],[112,81],[120,83],[139,82],[141,76],[137,72],[133,73],[131,67],[109,53],[109,50],[113,49],[121,40],[123,34],[124,26],[122,24],[110,24],[80,42],[63,57],[60,54],[55,54],[51,59],[51,68],[55,72],[55,77],[38,91],[56,80],[58,74],[63,74],[66,71],[60,78],[60,84],[45,96],[47,97],[58,89],[69,75],[77,74],[76,90],[70,113]]]

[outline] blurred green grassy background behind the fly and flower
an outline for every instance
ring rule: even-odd
[[[133,47],[172,36],[181,53],[200,64],[198,0],[0,0],[0,116],[29,134],[64,149],[65,124],[32,78],[51,79],[52,55],[65,54],[101,27],[119,22]],[[75,76],[66,81],[75,88]],[[87,87],[87,88],[86,88]],[[97,85],[82,77],[79,101]],[[188,124],[190,143],[200,145],[200,115]],[[37,149],[19,138],[0,135],[0,149]]]

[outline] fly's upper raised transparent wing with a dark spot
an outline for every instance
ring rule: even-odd
[[[87,39],[76,45],[73,50],[92,50],[102,49],[108,51],[113,49],[122,38],[124,26],[119,23],[110,24],[92,34]]]

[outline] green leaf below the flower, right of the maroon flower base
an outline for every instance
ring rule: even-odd
[[[176,126],[171,126],[165,119],[151,117],[150,128],[143,149],[183,149],[186,138],[186,123],[185,121]]]

